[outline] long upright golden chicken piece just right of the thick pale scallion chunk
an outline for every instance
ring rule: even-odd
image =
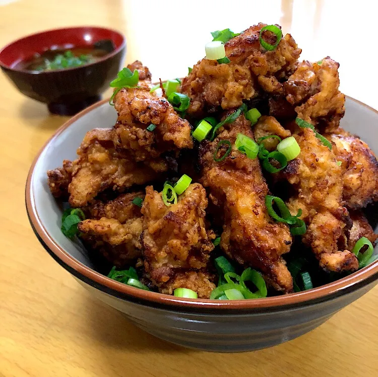
[[[326,270],[355,271],[355,255],[346,250],[346,245],[339,249],[348,224],[348,211],[342,206],[342,167],[337,165],[334,152],[311,129],[302,129],[294,137],[301,151],[283,175],[297,190],[287,206],[293,215],[299,209],[303,211],[300,218],[306,223],[307,232],[302,241],[311,247]]]

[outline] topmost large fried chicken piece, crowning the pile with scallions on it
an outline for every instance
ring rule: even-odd
[[[219,64],[204,58],[193,67],[181,85],[181,93],[191,98],[188,114],[202,117],[205,113],[240,106],[242,100],[258,96],[261,90],[283,91],[280,81],[294,71],[301,49],[286,34],[275,50],[265,50],[259,41],[264,26],[261,23],[251,26],[225,43],[230,63]],[[273,33],[266,34],[269,42],[275,43]]]

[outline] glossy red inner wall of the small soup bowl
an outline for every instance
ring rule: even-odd
[[[0,51],[0,65],[14,68],[19,62],[48,49],[91,46],[102,39],[110,39],[117,50],[124,43],[123,36],[115,30],[83,26],[47,30],[28,35],[5,46]]]

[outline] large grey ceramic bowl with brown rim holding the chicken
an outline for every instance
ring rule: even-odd
[[[186,347],[250,351],[307,333],[377,284],[378,261],[344,279],[305,292],[235,301],[177,298],[133,288],[99,274],[82,245],[61,233],[61,210],[50,194],[46,171],[60,166],[65,158],[74,159],[87,131],[111,127],[115,121],[114,107],[102,101],[62,126],[33,162],[26,184],[26,207],[46,251],[93,295],[125,313],[141,329]],[[358,133],[375,153],[377,125],[376,111],[347,98],[342,126]]]

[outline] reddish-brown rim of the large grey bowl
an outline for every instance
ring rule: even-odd
[[[378,115],[378,111],[372,109],[372,107],[352,98],[349,96],[350,100],[355,101],[369,109],[370,111],[375,112]],[[46,232],[45,228],[40,222],[38,213],[35,210],[34,206],[34,196],[31,189],[31,182],[34,174],[35,165],[39,159],[42,151],[56,139],[62,131],[66,130],[77,121],[79,118],[83,117],[85,114],[89,113],[93,109],[102,104],[108,102],[109,99],[104,99],[99,101],[87,109],[83,110],[65,124],[63,124],[42,146],[38,154],[33,160],[33,163],[30,167],[28,178],[26,181],[26,191],[25,191],[25,200],[26,200],[26,209],[28,212],[28,217],[30,224],[34,230],[35,235],[44,246],[44,248],[49,252],[49,254],[62,266],[66,268],[70,273],[76,276],[78,279],[83,282],[100,289],[103,292],[106,292],[112,296],[127,299],[130,301],[142,303],[149,306],[156,307],[166,307],[169,305],[179,306],[185,310],[201,310],[203,309],[228,309],[234,312],[234,310],[245,310],[247,311],[264,311],[263,309],[271,310],[282,310],[290,307],[298,307],[297,304],[310,305],[318,302],[327,301],[331,298],[336,298],[344,294],[350,293],[357,289],[363,288],[364,286],[372,283],[378,279],[378,260],[370,264],[367,267],[362,268],[348,277],[342,278],[335,282],[323,285],[318,288],[313,288],[304,292],[290,293],[282,296],[260,298],[254,300],[208,300],[208,299],[187,299],[179,298],[166,294],[156,293],[145,291],[142,289],[134,288],[126,284],[116,282],[115,280],[109,279],[104,275],[92,270],[92,268],[87,267],[83,263],[79,262],[71,255],[69,255],[64,249],[60,248],[55,241],[50,237]],[[301,306],[301,305],[299,305]],[[266,311],[266,310],[265,310]]]

